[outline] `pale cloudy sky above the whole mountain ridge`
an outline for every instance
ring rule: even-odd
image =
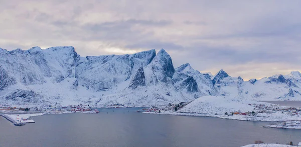
[[[164,48],[175,66],[261,78],[301,70],[300,0],[0,0],[0,47],[81,56]]]

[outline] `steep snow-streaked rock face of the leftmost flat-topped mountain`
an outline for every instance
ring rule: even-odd
[[[65,77],[74,77],[78,57],[74,47],[52,47],[42,50],[33,47],[29,50],[16,49],[0,53],[1,70],[9,81],[16,79],[23,85],[43,84],[48,77],[60,82]],[[11,82],[11,83],[17,83]],[[7,82],[8,83],[8,82]]]

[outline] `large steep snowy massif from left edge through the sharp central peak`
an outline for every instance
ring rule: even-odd
[[[0,49],[2,104],[78,104],[98,106],[164,105],[189,101],[193,79],[179,89],[170,55],[161,49],[135,54],[81,57],[74,47]]]

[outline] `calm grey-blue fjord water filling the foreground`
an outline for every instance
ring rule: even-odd
[[[113,112],[114,110],[114,112]],[[263,128],[270,122],[143,114],[137,108],[99,114],[50,114],[13,126],[0,117],[0,146],[242,146],[254,140],[294,143],[301,130]],[[108,113],[107,113],[108,112]]]

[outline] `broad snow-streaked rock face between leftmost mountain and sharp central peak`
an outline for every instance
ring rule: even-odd
[[[146,66],[156,56],[156,50],[125,55],[81,57],[76,68],[79,86],[93,91],[115,88],[130,79],[139,67]]]

